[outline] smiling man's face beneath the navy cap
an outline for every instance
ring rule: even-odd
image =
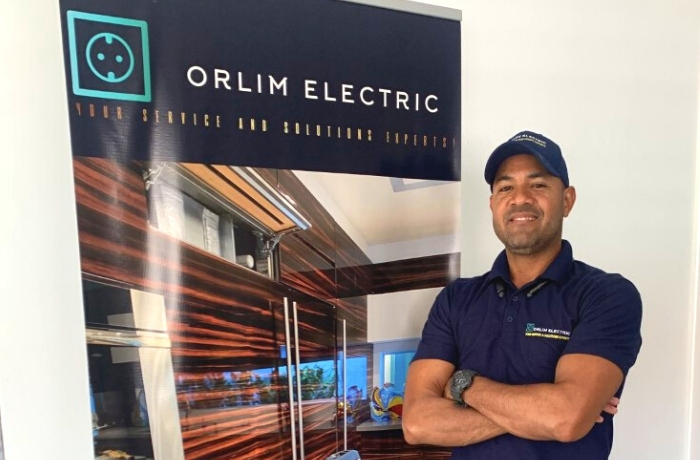
[[[558,245],[564,217],[576,201],[533,155],[515,155],[496,172],[490,206],[496,236],[512,254],[537,254]]]

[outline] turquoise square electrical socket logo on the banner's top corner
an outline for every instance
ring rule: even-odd
[[[76,96],[151,102],[146,21],[68,11]]]

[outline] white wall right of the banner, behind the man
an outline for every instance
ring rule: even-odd
[[[700,2],[429,3],[463,11],[463,274],[487,270],[501,248],[488,154],[522,129],[550,136],[578,190],[564,230],[575,257],[625,274],[644,300],[644,345],[612,458],[700,458],[700,420],[690,423],[690,405],[700,413],[697,381],[691,399]]]

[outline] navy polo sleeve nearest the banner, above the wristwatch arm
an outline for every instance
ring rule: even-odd
[[[413,360],[440,359],[457,364],[457,343],[452,328],[452,291],[449,284],[437,295],[423,326],[423,334]]]

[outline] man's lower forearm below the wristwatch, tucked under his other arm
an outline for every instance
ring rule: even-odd
[[[404,437],[409,444],[458,447],[476,444],[506,431],[474,409],[434,397],[410,404],[403,414]]]

